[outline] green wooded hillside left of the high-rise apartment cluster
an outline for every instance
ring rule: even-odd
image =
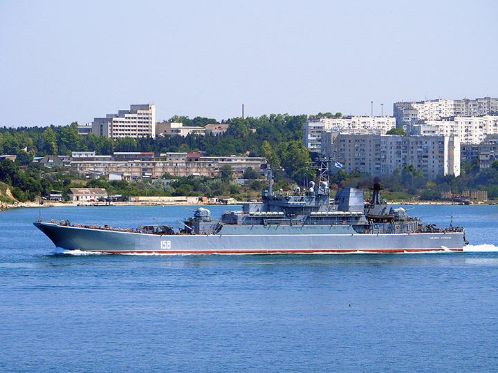
[[[0,151],[3,154],[17,155],[15,162],[0,162],[0,181],[5,182],[16,200],[34,200],[36,196],[48,195],[50,189],[69,187],[100,186],[109,193],[123,195],[206,195],[237,196],[255,198],[262,187],[259,173],[244,175],[250,182],[240,186],[233,180],[230,170],[221,178],[176,178],[165,185],[153,180],[134,182],[106,182],[104,180],[84,180],[71,175],[64,168],[44,169],[33,163],[33,157],[49,154],[71,155],[71,151],[95,151],[99,155],[111,155],[115,151],[154,152],[202,152],[204,155],[250,155],[267,157],[276,170],[277,182],[282,186],[292,182],[302,182],[312,173],[307,165],[311,161],[308,151],[302,144],[302,125],[306,115],[263,115],[261,117],[233,118],[223,121],[230,124],[222,135],[188,135],[187,137],[150,137],[134,139],[130,137],[112,140],[89,134],[78,134],[73,122],[68,126],[0,128]],[[172,117],[170,121],[184,121],[192,126],[205,126],[216,123],[211,118]],[[282,167],[284,169],[282,169]],[[287,177],[290,177],[287,178]]]

